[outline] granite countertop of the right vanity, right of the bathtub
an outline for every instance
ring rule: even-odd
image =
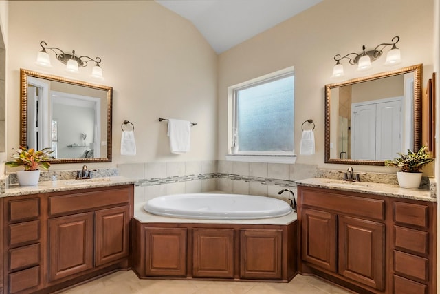
[[[307,178],[305,180],[297,180],[296,183],[307,187],[338,189],[380,196],[437,202],[434,191],[430,189],[406,189],[399,187],[399,185],[380,184],[377,182],[348,182],[329,178]]]

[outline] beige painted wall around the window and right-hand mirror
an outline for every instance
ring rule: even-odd
[[[347,169],[346,165],[324,163],[324,85],[359,76],[423,63],[423,85],[432,73],[432,0],[327,0],[292,19],[276,25],[219,55],[219,159],[228,145],[227,88],[285,67],[295,67],[295,149],[300,147],[300,125],[311,118],[316,125],[316,155],[298,156],[298,163]],[[361,9],[362,8],[362,9]],[[384,66],[373,63],[369,72],[356,72],[344,61],[346,75],[331,78],[336,54],[362,52],[400,36],[402,62]],[[355,170],[394,172],[386,167],[358,166]]]

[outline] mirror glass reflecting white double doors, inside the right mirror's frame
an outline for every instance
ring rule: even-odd
[[[412,149],[414,74],[331,88],[330,156],[386,160]]]

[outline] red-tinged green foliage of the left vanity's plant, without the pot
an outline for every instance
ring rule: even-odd
[[[25,171],[35,171],[39,167],[49,169],[50,162],[47,162],[47,160],[54,159],[53,156],[50,156],[54,151],[49,147],[35,151],[33,148],[26,149],[20,146],[19,149],[12,148],[12,150],[16,151],[16,153],[11,156],[15,158],[15,160],[8,161],[5,165],[8,167],[20,167],[23,165]]]

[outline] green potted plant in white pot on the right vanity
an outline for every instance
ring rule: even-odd
[[[386,160],[388,167],[397,167],[397,181],[402,188],[419,189],[421,182],[421,169],[428,163],[434,161],[426,152],[428,147],[422,146],[417,153],[408,149],[408,154],[399,154],[399,157],[393,160]]]

